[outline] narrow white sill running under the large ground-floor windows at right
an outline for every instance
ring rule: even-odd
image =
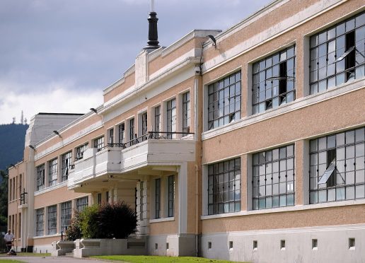
[[[282,213],[282,212],[290,212],[290,211],[303,211],[309,209],[324,209],[328,207],[340,207],[340,206],[352,206],[365,204],[365,199],[359,200],[347,200],[347,201],[333,201],[329,203],[321,203],[321,204],[299,204],[296,206],[285,206],[274,209],[261,209],[261,210],[250,210],[250,211],[240,211],[235,213],[226,213],[226,214],[216,214],[209,216],[200,216],[201,220],[208,219],[216,219],[216,218],[226,218],[233,216],[249,216],[255,214],[272,214],[272,213]]]

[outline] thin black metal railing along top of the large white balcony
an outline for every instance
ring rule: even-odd
[[[182,135],[180,138],[174,138],[174,135]],[[126,141],[125,143],[119,143],[119,144],[107,144],[104,147],[100,148],[99,151],[103,150],[104,148],[108,147],[119,147],[119,148],[128,148],[130,146],[134,146],[136,144],[141,143],[142,141],[146,141],[149,139],[184,139],[187,135],[193,135],[192,132],[168,132],[168,131],[147,131],[146,134],[143,134],[141,136],[137,136],[137,134],[134,134],[134,138]]]

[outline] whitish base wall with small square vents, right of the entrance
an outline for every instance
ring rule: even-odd
[[[365,224],[361,224],[207,233],[202,234],[201,255],[255,263],[360,263],[364,247]]]

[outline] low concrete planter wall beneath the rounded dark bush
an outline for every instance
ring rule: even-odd
[[[133,239],[77,239],[74,257],[96,255],[146,255],[146,240]]]

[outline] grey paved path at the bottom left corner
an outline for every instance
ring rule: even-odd
[[[22,256],[8,256],[8,257],[0,257],[1,259],[14,259],[20,260],[28,263],[59,263],[59,262],[67,262],[67,263],[104,263],[110,261],[99,260],[99,259],[76,259],[74,257],[22,257]]]

